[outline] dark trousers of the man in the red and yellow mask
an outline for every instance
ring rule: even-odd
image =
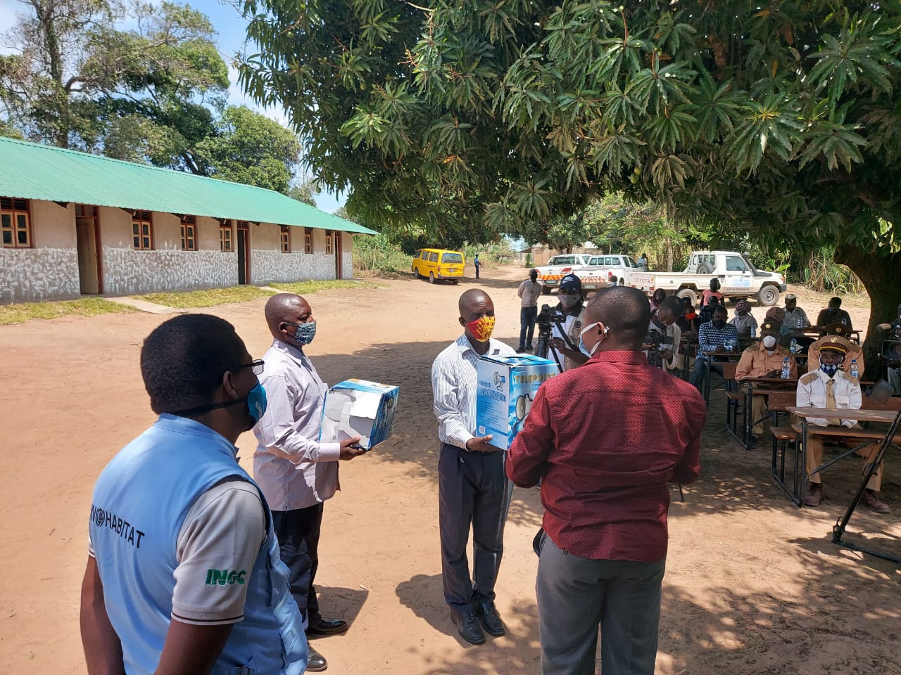
[[[504,554],[504,523],[512,483],[504,471],[504,452],[469,453],[443,444],[438,460],[438,524],[444,599],[456,612],[495,599],[497,570]],[[469,576],[469,525],[472,525],[473,585]]]

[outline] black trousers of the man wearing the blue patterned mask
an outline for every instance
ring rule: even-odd
[[[319,620],[319,600],[313,582],[319,568],[319,532],[323,525],[323,504],[305,509],[273,511],[272,527],[278,537],[282,563],[287,565],[291,595],[300,616],[313,624]]]

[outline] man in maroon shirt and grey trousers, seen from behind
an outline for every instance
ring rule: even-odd
[[[618,286],[588,304],[585,365],[542,384],[507,455],[514,483],[542,479],[538,614],[543,675],[653,675],[669,482],[700,470],[704,400],[648,365],[650,310]]]

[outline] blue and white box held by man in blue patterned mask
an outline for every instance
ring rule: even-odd
[[[343,441],[359,436],[359,445],[371,450],[391,436],[398,388],[392,384],[345,380],[325,395],[319,439]]]

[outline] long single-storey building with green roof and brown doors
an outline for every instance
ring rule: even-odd
[[[0,138],[0,302],[353,277],[375,234],[284,194]]]

